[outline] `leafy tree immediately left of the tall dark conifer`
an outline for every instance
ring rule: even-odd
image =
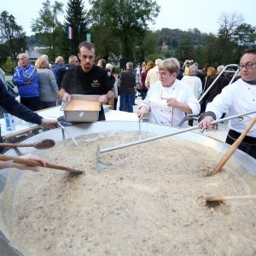
[[[61,22],[58,20],[58,15],[63,13],[63,3],[55,1],[53,5],[49,0],[43,3],[43,8],[39,10],[39,17],[32,20],[32,32],[36,33],[36,37],[40,41],[49,46],[49,59],[55,58],[55,47],[61,35]]]

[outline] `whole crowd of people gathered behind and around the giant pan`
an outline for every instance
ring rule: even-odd
[[[9,95],[0,79],[0,105],[20,119],[50,128],[55,127],[57,121],[43,119],[34,111],[68,101],[72,94],[99,95],[99,101],[102,104],[112,102],[113,109],[117,108],[119,99],[119,110],[133,113],[136,91],[139,91],[143,102],[137,111],[138,119],[148,114],[151,122],[174,127],[179,126],[185,116],[201,113],[199,125],[208,129],[212,120],[221,118],[224,113],[234,115],[256,109],[256,49],[247,50],[241,56],[238,66],[241,79],[233,84],[224,73],[218,76],[224,66],[216,70],[206,64],[200,70],[192,60],[183,63],[176,58],[156,59],[138,64],[136,68],[128,61],[119,78],[113,73],[111,63],[103,59],[97,64],[95,61],[95,46],[86,41],[79,44],[78,57],[69,57],[68,65],[61,56],[51,65],[47,55],[42,55],[32,66],[28,55],[20,54],[13,76],[20,102]],[[214,86],[199,102],[213,81]],[[255,114],[247,115],[242,122],[230,120],[226,143],[233,143],[253,116]],[[99,120],[105,120],[103,108]],[[239,148],[256,159],[255,125]],[[25,157],[38,159],[32,155]],[[44,160],[41,162],[45,164]]]

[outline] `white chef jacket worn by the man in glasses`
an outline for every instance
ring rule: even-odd
[[[207,104],[206,109],[215,113],[216,119],[220,119],[226,111],[231,116],[253,110],[256,110],[256,84],[247,84],[242,79],[225,86],[222,92]],[[230,119],[229,128],[241,133],[255,115],[256,113],[252,113],[244,116],[241,122],[239,119]],[[253,125],[247,136],[256,137],[256,125]]]

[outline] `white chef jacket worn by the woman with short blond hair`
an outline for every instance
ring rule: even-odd
[[[143,106],[147,108],[150,122],[177,127],[185,117],[185,113],[178,108],[167,106],[166,99],[171,97],[176,98],[178,102],[188,104],[193,115],[200,113],[200,104],[189,85],[177,79],[170,87],[164,87],[160,81],[155,82],[154,86],[150,86],[139,108]]]

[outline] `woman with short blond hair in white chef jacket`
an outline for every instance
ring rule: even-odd
[[[148,90],[139,106],[139,119],[148,113],[149,121],[177,127],[186,114],[200,113],[200,104],[188,84],[177,79],[180,64],[175,58],[166,59],[159,66],[160,81]]]

